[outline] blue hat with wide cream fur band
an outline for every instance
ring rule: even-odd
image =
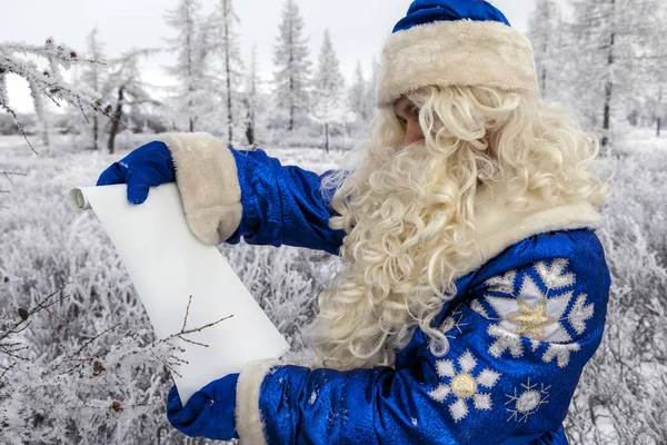
[[[385,43],[378,106],[454,85],[538,95],[530,40],[484,0],[415,0]]]

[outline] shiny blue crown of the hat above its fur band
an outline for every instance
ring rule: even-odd
[[[435,21],[497,21],[509,26],[507,18],[492,4],[484,0],[415,0],[408,13],[392,32],[405,31],[419,24]]]

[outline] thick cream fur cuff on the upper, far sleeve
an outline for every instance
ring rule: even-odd
[[[205,132],[167,134],[158,139],[171,151],[190,230],[202,243],[225,243],[242,216],[233,155],[222,141]]]

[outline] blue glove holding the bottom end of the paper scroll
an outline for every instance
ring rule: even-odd
[[[182,406],[176,386],[167,397],[167,418],[181,433],[217,441],[239,438],[236,432],[233,409],[238,374],[229,374],[213,380],[192,394]]]

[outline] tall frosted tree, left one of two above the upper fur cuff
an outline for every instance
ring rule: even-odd
[[[167,11],[165,21],[177,31],[167,39],[176,63],[167,72],[177,81],[175,93],[168,100],[173,121],[185,120],[189,131],[196,131],[202,116],[211,112],[210,91],[213,89],[207,76],[209,48],[201,27],[201,3],[181,0],[173,10]]]

